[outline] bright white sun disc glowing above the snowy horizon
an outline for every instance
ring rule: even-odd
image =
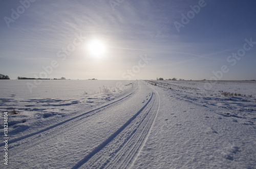
[[[88,50],[91,54],[95,56],[101,56],[105,53],[106,48],[103,42],[100,40],[93,40],[89,45],[88,45]]]

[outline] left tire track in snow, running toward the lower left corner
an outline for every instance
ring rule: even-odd
[[[129,95],[122,97],[121,99],[118,99],[114,102],[111,102],[111,103],[101,106],[99,108],[90,110],[88,112],[85,112],[81,115],[70,118],[68,120],[65,120],[63,122],[57,123],[55,125],[45,128],[45,129],[39,130],[37,132],[10,140],[10,141],[8,141],[8,144],[10,146],[8,149],[10,150],[13,148],[12,151],[15,152],[15,154],[19,154],[19,153],[22,153],[24,150],[31,149],[34,146],[37,146],[38,144],[43,143],[46,140],[54,139],[55,135],[63,134],[65,132],[69,131],[70,128],[73,128],[73,126],[79,127],[79,125],[81,125],[85,121],[88,121],[91,118],[93,118],[93,115],[95,115],[95,114],[98,115],[99,113],[101,113],[102,110],[111,109],[111,108],[113,108],[113,106],[118,106],[118,105],[122,104],[123,102],[131,99],[136,93],[139,92],[139,90],[140,90],[140,86],[138,85],[138,88],[136,89],[136,91],[130,93]],[[19,141],[23,141],[23,140],[24,140],[24,143],[22,143],[20,145]],[[19,143],[16,143],[16,142],[19,142]],[[17,145],[12,147],[13,144],[15,144],[15,143]],[[0,146],[4,146],[4,143],[0,144]],[[1,152],[2,152],[2,150],[1,150]],[[4,158],[1,157],[0,159],[2,160]]]

